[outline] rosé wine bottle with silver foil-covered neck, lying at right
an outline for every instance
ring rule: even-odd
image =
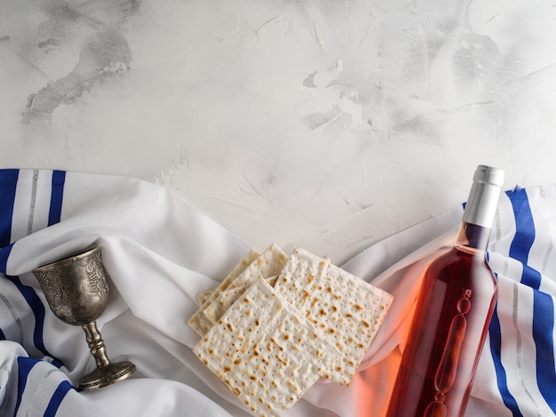
[[[461,416],[496,303],[486,261],[504,171],[480,165],[457,240],[423,272],[388,417]]]

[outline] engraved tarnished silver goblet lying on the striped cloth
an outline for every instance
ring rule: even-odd
[[[92,248],[33,270],[58,319],[85,332],[96,369],[83,376],[80,389],[98,389],[135,372],[129,361],[111,362],[96,319],[106,309],[110,288],[100,248]]]

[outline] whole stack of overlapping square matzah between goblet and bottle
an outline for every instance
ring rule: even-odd
[[[348,385],[392,303],[389,295],[296,248],[251,251],[187,324],[194,352],[258,415],[281,415],[320,377]]]

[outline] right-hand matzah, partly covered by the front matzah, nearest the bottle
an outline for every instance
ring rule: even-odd
[[[294,250],[274,288],[340,350],[341,361],[326,376],[348,385],[392,295],[301,248]]]

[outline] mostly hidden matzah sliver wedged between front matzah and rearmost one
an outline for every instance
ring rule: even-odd
[[[206,311],[211,303],[214,303],[215,300],[217,300],[218,295],[226,289],[252,284],[256,279],[258,279],[258,277],[270,278],[274,275],[278,275],[280,271],[282,271],[282,267],[287,260],[288,256],[282,251],[281,248],[273,243],[266,248],[262,254],[257,256],[253,262],[244,268],[241,273],[228,279],[228,277],[232,275],[230,273],[230,275],[222,281],[222,284],[220,284],[218,288],[212,292],[209,299],[203,303],[199,310],[195,311],[195,314],[191,317],[191,319],[187,320],[187,324],[192,327],[195,332],[203,336],[214,324],[214,321],[207,317],[204,311]]]

